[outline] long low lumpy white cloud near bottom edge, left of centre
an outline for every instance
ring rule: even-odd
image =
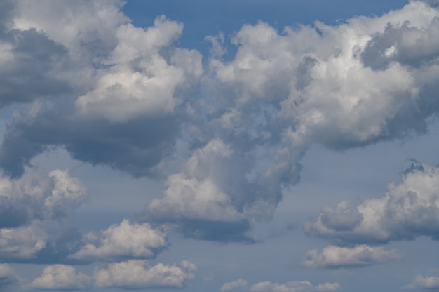
[[[196,266],[183,261],[180,266],[147,265],[145,260],[111,263],[107,269],[95,272],[95,286],[100,288],[181,288],[185,281],[194,279]]]

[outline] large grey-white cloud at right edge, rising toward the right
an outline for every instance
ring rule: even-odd
[[[438,168],[415,161],[399,185],[389,185],[384,197],[367,199],[358,206],[342,202],[337,208],[327,207],[304,228],[307,234],[344,244],[385,243],[420,236],[438,239],[438,202]],[[355,220],[341,223],[352,216]]]

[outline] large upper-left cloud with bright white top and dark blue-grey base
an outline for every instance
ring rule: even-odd
[[[41,103],[29,117],[11,121],[0,150],[1,166],[20,176],[32,157],[60,145],[75,159],[135,176],[161,171],[161,160],[170,154],[179,124],[187,119],[187,91],[203,72],[198,51],[173,46],[182,25],[159,17],[153,27],[136,28],[123,16],[121,1],[15,5],[6,13],[14,32],[38,32],[61,48],[59,58],[55,49],[41,51],[54,56],[51,72],[68,90],[51,93],[58,98],[50,105]],[[11,46],[5,50],[17,51]],[[15,59],[10,62],[18,66]],[[5,74],[12,80],[25,77],[18,69]],[[43,88],[60,88],[55,81],[46,83]],[[15,87],[15,93],[31,88]],[[20,96],[32,101],[39,94],[33,92],[35,96]]]

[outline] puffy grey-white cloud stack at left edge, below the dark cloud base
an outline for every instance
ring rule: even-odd
[[[62,170],[27,169],[19,179],[0,177],[0,255],[9,260],[50,261],[68,253],[77,232],[60,227],[87,198],[86,187]]]

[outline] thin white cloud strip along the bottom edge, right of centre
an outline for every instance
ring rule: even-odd
[[[250,292],[326,292],[339,289],[338,283],[329,282],[313,286],[309,281],[291,281],[285,284],[263,281],[251,286]]]

